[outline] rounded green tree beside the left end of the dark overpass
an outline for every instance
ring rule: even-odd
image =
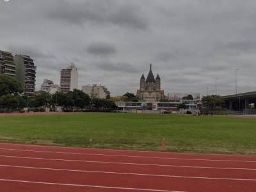
[[[208,95],[202,98],[202,104],[205,108],[214,110],[217,107],[221,108],[224,100],[220,95]]]

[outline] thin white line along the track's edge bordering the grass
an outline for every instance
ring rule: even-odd
[[[22,146],[22,147],[41,147],[41,148],[65,148],[65,149],[84,149],[84,150],[104,150],[104,151],[121,151],[121,152],[141,152],[141,153],[156,153],[156,154],[170,154],[170,155],[192,155],[192,156],[242,156],[242,157],[252,157],[246,156],[244,154],[193,154],[193,153],[186,153],[186,152],[160,152],[160,151],[149,151],[149,150],[131,150],[131,149],[117,149],[117,148],[88,148],[88,147],[62,147],[62,146],[51,146],[51,145],[31,145],[31,144],[20,144],[20,143],[0,143],[0,145],[7,145],[7,146]]]

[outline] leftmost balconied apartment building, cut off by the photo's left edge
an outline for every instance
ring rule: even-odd
[[[0,74],[15,77],[16,66],[11,52],[0,51]]]

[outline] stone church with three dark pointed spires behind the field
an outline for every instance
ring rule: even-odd
[[[161,79],[159,74],[155,79],[152,64],[150,64],[147,79],[145,79],[144,74],[140,78],[140,90],[137,90],[137,97],[145,102],[159,102],[164,98],[164,90],[161,90]]]

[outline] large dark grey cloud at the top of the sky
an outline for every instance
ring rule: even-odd
[[[60,1],[57,9],[50,9],[47,16],[51,19],[62,20],[68,24],[84,25],[94,23],[99,25],[147,29],[147,18],[143,17],[140,8],[116,1],[83,1],[73,3]]]

